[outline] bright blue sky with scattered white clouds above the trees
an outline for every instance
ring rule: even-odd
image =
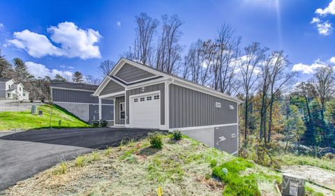
[[[98,77],[101,61],[118,61],[133,43],[135,15],[141,12],[157,19],[179,15],[186,47],[198,38],[214,38],[226,22],[242,37],[243,46],[257,41],[284,50],[302,79],[325,63],[335,63],[335,0],[3,0],[0,48],[8,60],[29,62],[34,75],[79,70]]]

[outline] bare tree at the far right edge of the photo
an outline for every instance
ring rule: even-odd
[[[314,74],[313,84],[320,100],[320,112],[322,121],[325,119],[325,101],[335,93],[335,76],[332,66],[318,68]]]

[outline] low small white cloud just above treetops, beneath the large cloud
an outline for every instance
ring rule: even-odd
[[[31,75],[34,75],[35,77],[49,76],[51,78],[54,78],[56,74],[59,74],[61,75],[61,77],[65,77],[67,80],[70,80],[71,76],[73,75],[73,73],[68,70],[57,70],[57,69],[50,70],[43,64],[34,63],[31,61],[26,62],[26,65],[29,73],[31,73]]]

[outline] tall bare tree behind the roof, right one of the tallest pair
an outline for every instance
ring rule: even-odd
[[[183,22],[177,15],[162,16],[163,29],[158,39],[156,53],[156,69],[167,73],[177,73],[181,64],[181,52],[183,47],[179,45],[181,37],[180,27]]]

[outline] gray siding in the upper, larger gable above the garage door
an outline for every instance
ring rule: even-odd
[[[126,63],[117,72],[117,74],[115,74],[115,76],[119,77],[121,80],[124,80],[125,82],[134,82],[136,80],[143,80],[148,77],[154,77],[155,75]]]

